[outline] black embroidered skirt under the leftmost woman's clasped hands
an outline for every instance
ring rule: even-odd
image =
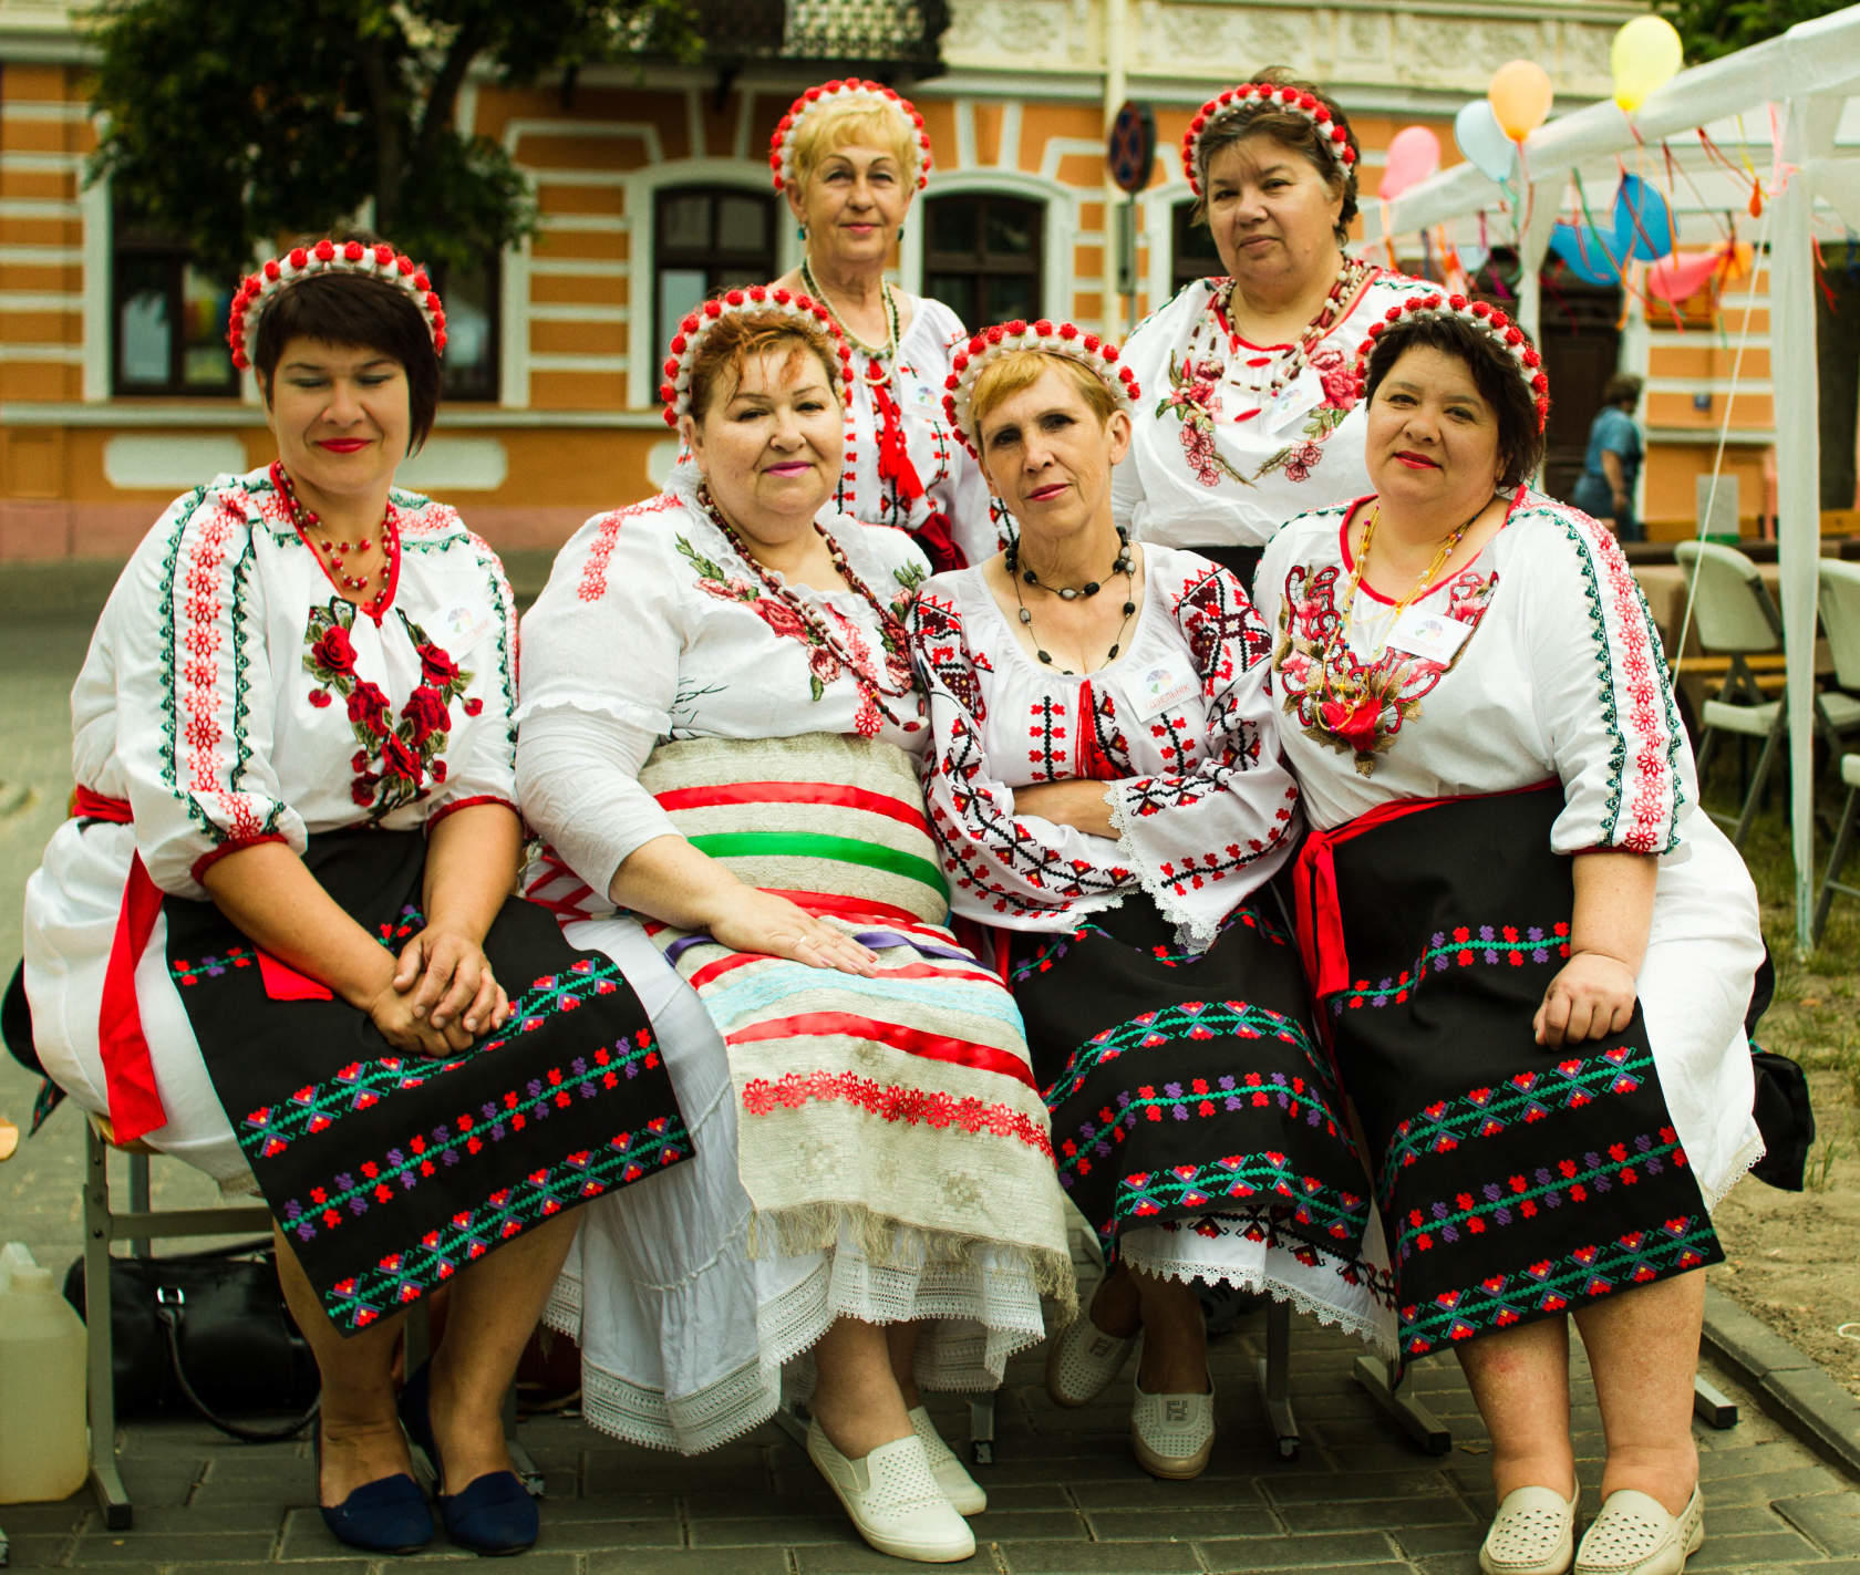
[[[312,837],[305,865],[383,946],[424,926],[418,831]],[[512,1015],[450,1058],[392,1051],[340,999],[275,999],[257,948],[210,902],[162,909],[214,1093],[344,1335],[692,1155],[645,1010],[539,907],[513,898],[491,924],[484,950]]]

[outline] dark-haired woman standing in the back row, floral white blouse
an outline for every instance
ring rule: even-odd
[[[1183,286],[1123,346],[1149,398],[1118,523],[1248,586],[1280,524],[1365,489],[1356,348],[1427,288],[1345,253],[1356,152],[1341,106],[1280,69],[1203,104],[1183,173],[1226,277]]]

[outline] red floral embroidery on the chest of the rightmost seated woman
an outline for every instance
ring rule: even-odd
[[[1278,647],[1272,653],[1285,694],[1285,714],[1308,738],[1354,755],[1356,770],[1371,775],[1376,753],[1388,749],[1402,723],[1421,714],[1421,699],[1453,669],[1471,632],[1447,662],[1386,647],[1363,662],[1350,649],[1337,614],[1335,563],[1319,571],[1293,565],[1285,575]],[[1462,569],[1447,582],[1445,615],[1479,627],[1499,576]]]

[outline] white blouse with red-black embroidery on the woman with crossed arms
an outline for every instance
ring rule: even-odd
[[[1265,627],[1241,582],[1144,547],[1144,604],[1122,655],[1064,677],[1029,656],[980,569],[936,575],[910,617],[936,740],[924,794],[954,911],[1064,930],[1149,893],[1205,950],[1295,840]],[[1116,839],[1016,814],[1016,788],[1105,783]]]

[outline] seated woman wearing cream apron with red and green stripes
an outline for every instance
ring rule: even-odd
[[[923,556],[822,513],[852,366],[805,296],[707,303],[662,390],[692,457],[523,621],[526,887],[640,989],[699,1153],[590,1216],[549,1317],[588,1419],[660,1449],[817,1374],[807,1450],[859,1532],[945,1560],[986,1499],[917,1387],[999,1383],[1071,1264],[1019,1015],[941,926],[897,621]]]

